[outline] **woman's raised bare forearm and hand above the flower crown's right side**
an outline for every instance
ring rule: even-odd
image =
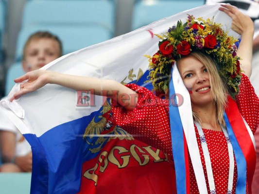
[[[244,71],[244,74],[250,78],[252,73],[254,23],[249,16],[242,14],[232,5],[222,5],[220,10],[232,18],[232,30],[242,36],[237,55],[242,59],[240,61],[241,69]]]

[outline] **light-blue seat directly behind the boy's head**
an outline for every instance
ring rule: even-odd
[[[47,26],[34,25],[21,29],[17,39],[16,61],[21,61],[22,51],[28,37],[37,31],[49,31],[57,35],[63,44],[63,54],[103,42],[113,37],[113,34],[103,26]]]

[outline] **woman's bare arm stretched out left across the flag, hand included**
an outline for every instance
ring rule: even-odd
[[[73,76],[48,70],[35,70],[15,79],[15,82],[22,82],[25,80],[28,81],[20,85],[20,90],[14,94],[13,99],[17,99],[24,94],[43,87],[47,83],[51,83],[76,91],[94,90],[95,95],[112,97],[113,100],[116,101],[120,101],[118,98],[122,97],[124,103],[121,104],[121,106],[125,107],[127,110],[133,110],[138,101],[138,95],[135,91],[113,80]],[[116,91],[116,93],[114,91]]]

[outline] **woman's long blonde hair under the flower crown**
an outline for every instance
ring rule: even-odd
[[[226,107],[227,89],[219,75],[215,62],[209,56],[201,52],[191,52],[188,56],[198,59],[207,68],[209,74],[210,90],[216,106],[217,121],[220,125],[225,126],[223,116],[224,109]],[[179,63],[176,62],[176,65],[178,66]],[[197,113],[192,112],[192,116],[194,121],[201,124],[201,119]]]

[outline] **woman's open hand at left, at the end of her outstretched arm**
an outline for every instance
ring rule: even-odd
[[[35,70],[15,79],[16,83],[26,80],[27,82],[20,84],[20,90],[14,94],[13,98],[11,98],[11,101],[46,85],[48,83],[49,73],[49,71],[45,70]]]

